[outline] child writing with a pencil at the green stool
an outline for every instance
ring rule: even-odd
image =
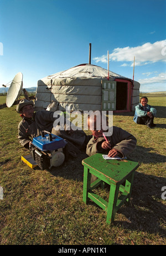
[[[97,118],[101,119],[100,129],[97,127]],[[137,144],[136,137],[129,132],[121,129],[120,127],[113,126],[112,134],[108,129],[107,131],[102,128],[102,117],[99,115],[88,116],[87,125],[92,132],[92,139],[86,146],[86,154],[88,156],[95,155],[95,153],[103,153],[108,157],[121,157],[124,158],[131,153]],[[107,121],[108,127],[108,121]],[[108,136],[105,136],[107,133]],[[109,135],[110,133],[110,135]],[[94,175],[91,175],[91,183],[96,180]]]

